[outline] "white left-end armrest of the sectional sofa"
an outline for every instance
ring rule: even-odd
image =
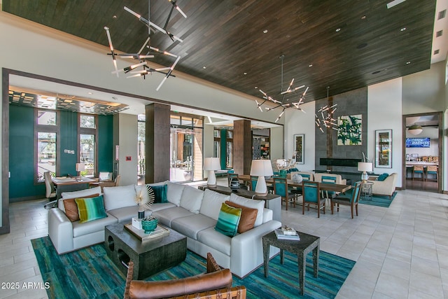
[[[58,208],[48,210],[48,235],[57,253],[73,250],[73,225],[64,212]]]

